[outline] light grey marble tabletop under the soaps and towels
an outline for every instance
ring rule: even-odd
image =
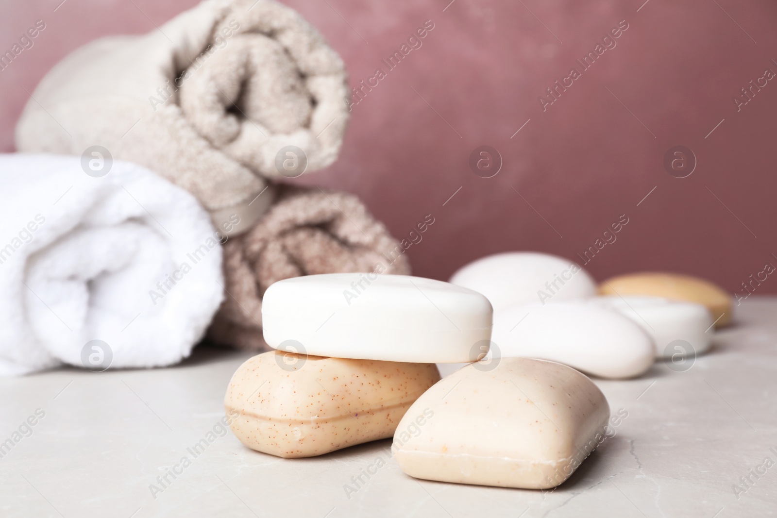
[[[218,424],[246,353],[200,346],[168,369],[2,378],[0,441],[23,435],[0,458],[0,516],[774,516],[777,298],[737,309],[685,372],[657,363],[635,380],[594,380],[628,417],[547,492],[418,481],[390,440],[294,460],[248,450]],[[347,494],[378,457],[385,465]]]

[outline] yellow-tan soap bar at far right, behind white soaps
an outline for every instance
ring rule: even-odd
[[[731,296],[708,280],[678,273],[630,273],[605,280],[599,285],[601,295],[650,295],[674,301],[703,304],[713,314],[715,327],[732,320]]]

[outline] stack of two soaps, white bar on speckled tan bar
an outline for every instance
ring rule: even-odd
[[[227,412],[246,446],[310,457],[385,439],[440,374],[434,363],[477,360],[492,309],[483,295],[438,280],[331,273],[272,284],[264,339],[277,349],[232,377]],[[473,352],[474,351],[474,352]]]

